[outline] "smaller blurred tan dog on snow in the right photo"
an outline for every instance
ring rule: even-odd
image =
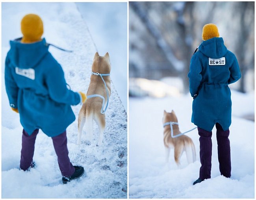
[[[171,113],[163,112],[163,124],[166,122],[178,122],[178,119],[172,110]],[[173,125],[173,135],[178,135],[180,132],[179,126]],[[163,130],[163,143],[165,145],[166,162],[168,162],[170,149],[174,148],[174,159],[178,167],[180,167],[180,157],[186,151],[187,162],[192,163],[196,160],[195,145],[192,139],[186,135],[179,137],[171,137],[171,127],[169,125],[164,127]]]

